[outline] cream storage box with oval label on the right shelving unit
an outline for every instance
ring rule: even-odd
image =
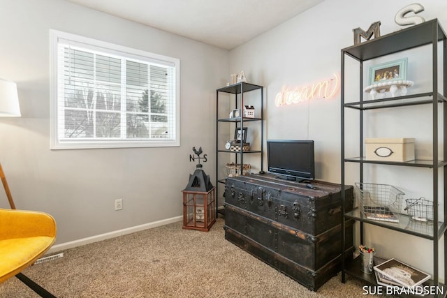
[[[366,143],[366,158],[369,161],[413,161],[414,139],[401,137],[392,139],[369,138]]]

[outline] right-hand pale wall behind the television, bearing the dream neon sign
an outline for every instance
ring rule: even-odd
[[[367,30],[373,22],[381,21],[381,35],[400,30],[402,27],[395,24],[394,17],[398,10],[410,3],[413,1],[326,0],[230,52],[230,73],[244,70],[249,82],[265,87],[265,139],[315,140],[317,179],[340,182],[339,94],[332,100],[316,99],[275,107],[276,94],[284,85],[291,89],[303,87],[339,73],[340,50],[353,45],[352,29],[360,27]],[[447,11],[447,1],[422,0],[418,3],[425,7],[419,15],[425,20],[438,18],[447,28],[447,15],[444,13]],[[413,91],[427,87],[428,82],[421,74],[431,73],[430,60],[427,60],[430,56],[417,50],[405,55],[409,57],[409,80],[416,82]],[[387,59],[391,58],[394,59]],[[356,78],[349,77],[346,83],[355,82],[350,80]],[[380,124],[379,128],[367,126],[369,137],[416,137],[416,154],[424,156],[430,152],[430,148],[427,149],[432,133],[429,107],[405,108],[400,112],[393,110],[381,118],[373,113],[368,117],[369,123]],[[421,117],[427,117],[427,120],[423,121]],[[346,124],[351,129],[346,135],[346,142],[351,142],[352,138],[353,143],[358,144],[357,121],[353,119]],[[358,156],[356,154],[352,156]],[[346,170],[347,184],[358,181],[356,168]],[[416,198],[432,198],[429,170],[398,168],[395,172],[396,168],[386,168],[383,174],[376,171],[379,170],[369,172],[374,179],[372,182],[398,186],[407,194],[406,198],[415,198],[416,195]],[[442,209],[444,205],[439,207]],[[376,227],[368,227],[367,230],[373,230],[374,234],[368,234],[366,244],[376,246],[379,255],[400,258],[432,272],[430,241]],[[441,238],[441,242],[443,240]],[[359,244],[358,237],[356,241]],[[442,251],[444,249],[441,247]],[[442,259],[440,264],[440,269],[444,270]]]

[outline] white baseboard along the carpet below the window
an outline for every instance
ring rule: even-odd
[[[169,223],[177,223],[178,221],[182,221],[182,220],[183,220],[183,216],[175,216],[172,218],[163,219],[161,221],[154,221],[152,223],[145,223],[144,225],[137,225],[137,226],[131,227],[131,228],[126,228],[126,229],[108,232],[108,233],[104,233],[104,234],[98,234],[98,235],[92,236],[92,237],[82,238],[82,239],[75,240],[75,241],[69,241],[69,242],[65,242],[65,243],[61,243],[61,244],[56,244],[56,245],[52,246],[47,251],[46,254],[56,253],[57,251],[64,251],[68,248],[75,248],[75,247],[82,246],[85,244],[91,244],[94,242],[103,241],[105,239],[115,238],[115,237],[122,236],[125,234],[131,234],[133,232],[139,232],[142,230],[156,228],[161,225],[168,225]]]

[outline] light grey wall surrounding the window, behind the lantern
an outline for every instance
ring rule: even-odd
[[[181,218],[193,146],[208,154],[214,179],[215,90],[226,82],[228,51],[61,0],[0,0],[0,24],[0,77],[17,83],[22,108],[21,118],[0,121],[16,207],[52,214],[57,244]],[[181,146],[51,151],[49,29],[180,59]],[[0,207],[8,208],[3,191]]]

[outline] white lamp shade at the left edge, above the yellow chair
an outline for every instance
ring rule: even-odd
[[[17,85],[0,79],[0,117],[20,117]]]

